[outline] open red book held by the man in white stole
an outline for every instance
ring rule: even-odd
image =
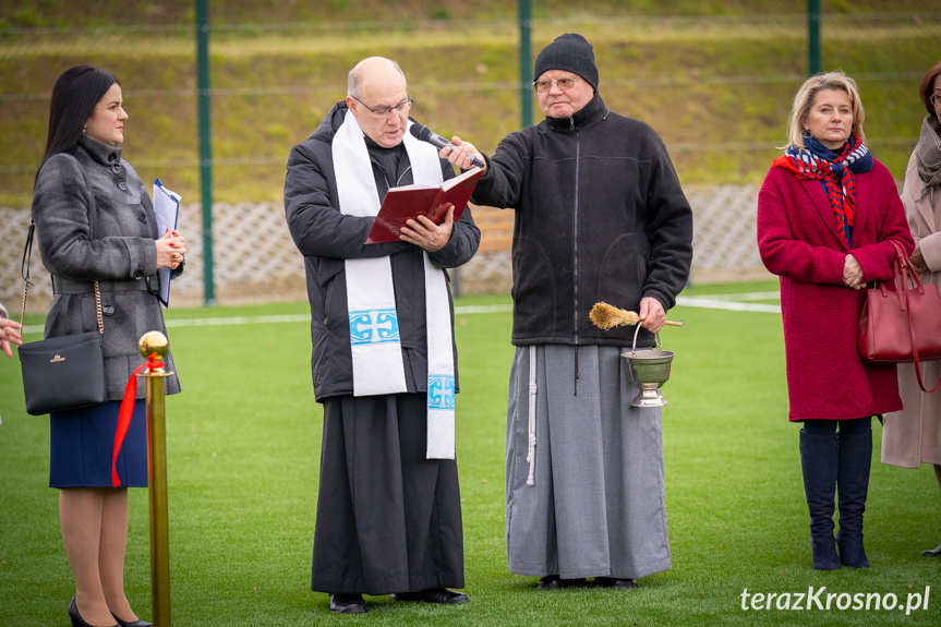
[[[480,168],[473,168],[439,186],[417,183],[391,188],[386,192],[365,243],[399,241],[401,228],[408,220],[414,220],[419,216],[427,216],[434,224],[439,225],[445,219],[444,207],[448,203],[455,206],[455,221],[458,221],[482,173]]]

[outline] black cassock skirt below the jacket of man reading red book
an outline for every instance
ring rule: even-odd
[[[457,462],[425,459],[424,394],[328,398],[311,590],[463,588]]]

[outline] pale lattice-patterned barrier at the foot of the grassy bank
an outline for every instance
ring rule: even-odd
[[[686,189],[693,209],[693,282],[769,278],[758,256],[755,215],[758,185],[699,185]],[[473,207],[484,231],[481,252],[458,270],[462,293],[499,292],[512,285],[509,234],[512,212]],[[0,207],[0,301],[20,308],[23,254],[29,210]],[[203,302],[203,228],[198,204],[184,205],[179,228],[186,238],[186,272],[173,281],[171,304]],[[221,304],[297,301],[306,298],[303,257],[279,202],[213,206],[216,301]],[[34,250],[29,310],[45,311],[51,299],[49,275]]]

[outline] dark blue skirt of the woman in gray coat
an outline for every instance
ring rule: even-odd
[[[111,459],[120,401],[49,414],[49,487],[112,487]],[[147,405],[134,415],[118,453],[121,487],[147,487]]]

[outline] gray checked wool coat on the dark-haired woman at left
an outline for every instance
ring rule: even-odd
[[[121,158],[120,146],[107,146],[83,135],[69,155],[55,155],[46,161],[33,192],[36,239],[43,263],[52,275],[55,293],[45,336],[98,328],[93,282],[97,279],[105,323],[108,400],[121,400],[128,378],[144,363],[137,350],[141,336],[150,330],[167,333],[160,302],[147,290],[145,280],[148,277],[150,287],[157,288],[157,221],[144,183]],[[88,174],[92,190],[81,168]],[[95,239],[88,218],[92,192],[97,213]],[[173,276],[179,276],[184,264]],[[171,354],[165,363],[168,371],[176,372]],[[165,381],[167,394],[180,391],[176,374]],[[138,385],[137,398],[144,396],[145,386]]]

